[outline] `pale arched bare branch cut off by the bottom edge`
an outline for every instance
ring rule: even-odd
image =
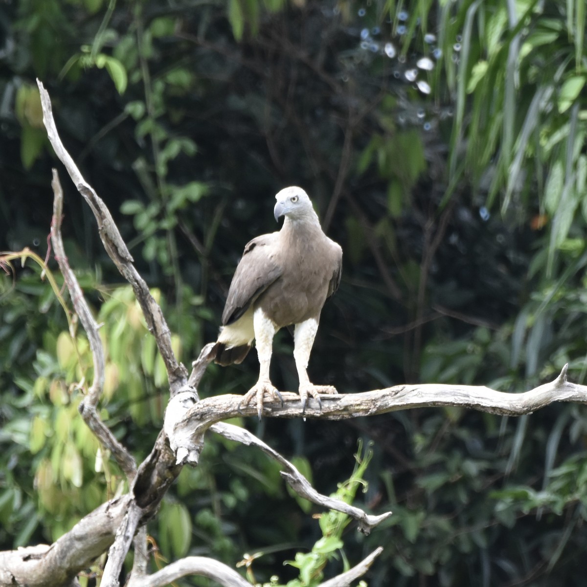
[[[251,587],[251,583],[245,581],[230,566],[206,556],[186,556],[153,575],[140,579],[131,578],[128,587],[164,587],[187,575],[208,577],[224,587]]]

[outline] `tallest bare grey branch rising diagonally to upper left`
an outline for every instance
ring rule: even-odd
[[[171,336],[167,326],[167,322],[163,317],[161,308],[153,299],[149,292],[149,288],[144,279],[133,265],[133,258],[120,236],[120,232],[114,224],[114,220],[110,211],[103,203],[102,199],[96,194],[92,186],[90,186],[83,178],[79,169],[73,161],[68,151],[63,146],[59,133],[53,119],[53,111],[51,107],[51,100],[47,90],[40,80],[37,80],[39,92],[41,93],[41,105],[43,108],[43,124],[47,130],[49,141],[55,150],[55,154],[63,163],[72,178],[73,183],[77,187],[77,191],[82,194],[87,204],[92,208],[92,212],[96,217],[98,223],[98,231],[100,238],[104,244],[106,252],[110,255],[112,261],[117,266],[122,276],[129,282],[134,290],[137,301],[143,310],[144,317],[147,321],[147,326],[157,341],[157,347],[163,357],[167,369],[167,376],[169,378],[171,394],[177,393],[187,382],[187,370],[181,363],[177,362],[176,356],[171,349]]]

